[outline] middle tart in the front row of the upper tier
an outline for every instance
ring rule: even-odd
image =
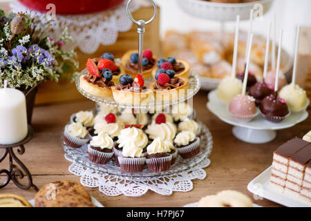
[[[144,77],[138,74],[121,75],[120,83],[111,88],[116,102],[123,104],[148,104],[153,100],[153,91],[144,86]]]

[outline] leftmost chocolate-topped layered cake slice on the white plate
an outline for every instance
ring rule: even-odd
[[[303,147],[308,146],[309,142],[294,138],[281,145],[273,153],[272,171],[270,177],[270,186],[283,192],[285,180],[288,173],[290,157]]]

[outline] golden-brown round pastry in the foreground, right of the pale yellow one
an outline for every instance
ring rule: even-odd
[[[35,206],[95,207],[84,187],[70,180],[59,180],[44,185],[35,195]]]

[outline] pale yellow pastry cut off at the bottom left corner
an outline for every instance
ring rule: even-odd
[[[16,194],[0,194],[0,207],[32,207],[25,198]]]

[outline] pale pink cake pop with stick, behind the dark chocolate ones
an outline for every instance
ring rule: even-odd
[[[272,66],[271,70],[267,72],[267,76],[265,77],[265,83],[270,89],[274,89],[274,84],[275,84],[275,71],[276,71],[276,62],[275,62],[275,57],[276,57],[276,46],[275,46],[275,41],[276,41],[276,13],[274,13],[273,17],[273,38],[272,38]],[[279,73],[279,90],[283,88],[283,86],[287,85],[288,81],[286,81],[285,76],[283,72],[280,70]]]

